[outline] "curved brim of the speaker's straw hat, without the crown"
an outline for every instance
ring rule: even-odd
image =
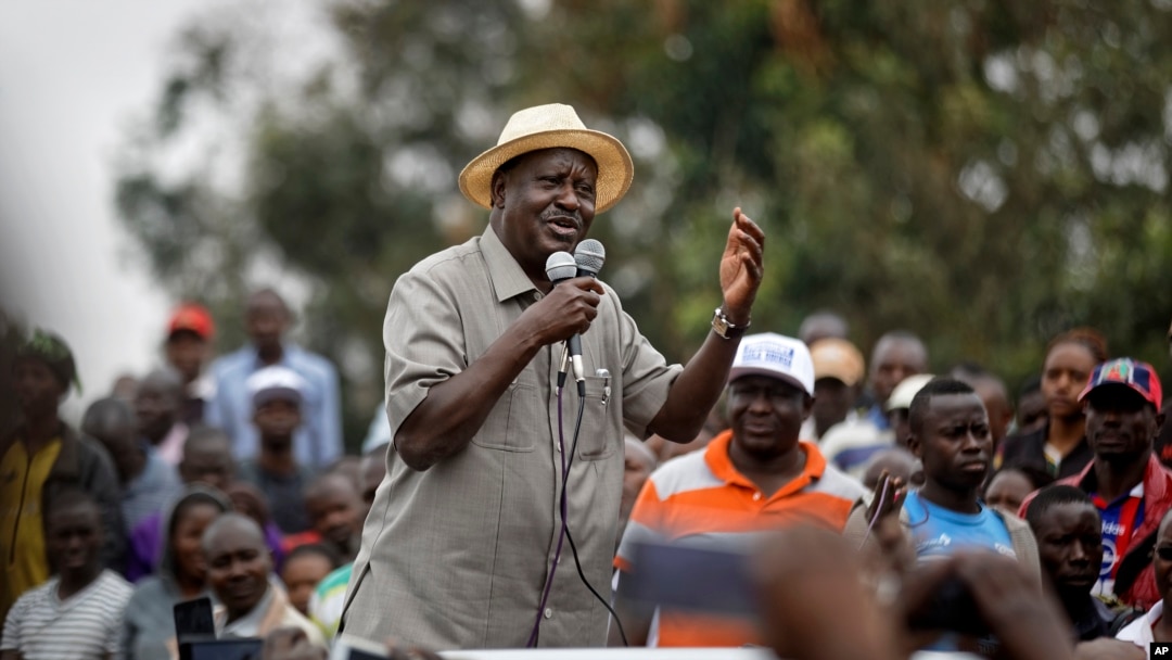
[[[635,177],[631,154],[614,136],[590,129],[557,129],[534,132],[498,144],[481,154],[459,172],[459,191],[473,204],[492,209],[492,175],[510,159],[540,149],[577,149],[594,158],[594,212],[614,206]]]

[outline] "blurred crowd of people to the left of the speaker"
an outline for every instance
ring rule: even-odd
[[[18,349],[20,417],[0,440],[6,660],[177,658],[172,608],[202,597],[224,635],[294,626],[327,646],[389,437],[343,455],[334,367],[285,339],[272,290],[245,318],[252,343],[211,360],[210,313],[180,305],[163,363],[76,429],[59,413],[81,382],[66,340],[38,329]]]

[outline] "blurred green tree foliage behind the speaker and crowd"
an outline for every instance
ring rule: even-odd
[[[225,318],[258,261],[308,283],[308,343],[343,367],[352,444],[381,390],[395,278],[482,231],[458,171],[512,110],[550,101],[632,149],[634,188],[592,232],[606,279],[673,359],[707,332],[742,205],[769,237],[756,328],[792,333],[831,307],[865,351],[908,328],[935,368],[976,360],[1010,385],[1074,325],[1164,363],[1167,2],[328,11],[342,54],[295,89],[250,84],[247,33],[213,21],[185,33],[152,130],[128,145],[118,205],[161,280]],[[241,88],[260,96],[245,111]],[[180,176],[159,164],[209,108],[243,136],[236,188],[207,163]]]

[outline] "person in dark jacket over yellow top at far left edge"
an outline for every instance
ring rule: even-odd
[[[50,574],[46,556],[45,502],[68,488],[93,496],[102,526],[122,529],[121,494],[114,463],[96,441],[77,434],[57,416],[57,406],[77,386],[73,353],[61,338],[36,331],[13,362],[21,422],[0,438],[0,617],[23,592]],[[79,386],[80,389],[80,386]],[[121,533],[107,533],[102,559],[116,566]]]

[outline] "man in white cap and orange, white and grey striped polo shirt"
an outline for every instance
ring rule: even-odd
[[[741,340],[728,377],[731,428],[703,451],[655,470],[622,535],[615,566],[627,576],[619,578],[616,604],[632,645],[647,642],[654,613],[628,591],[640,570],[640,544],[718,538],[736,546],[798,522],[843,530],[864,488],[829,464],[816,444],[798,440],[812,406],[813,361],[805,343],[775,333]],[[672,610],[660,612],[655,638],[660,646],[761,642],[751,620]]]

